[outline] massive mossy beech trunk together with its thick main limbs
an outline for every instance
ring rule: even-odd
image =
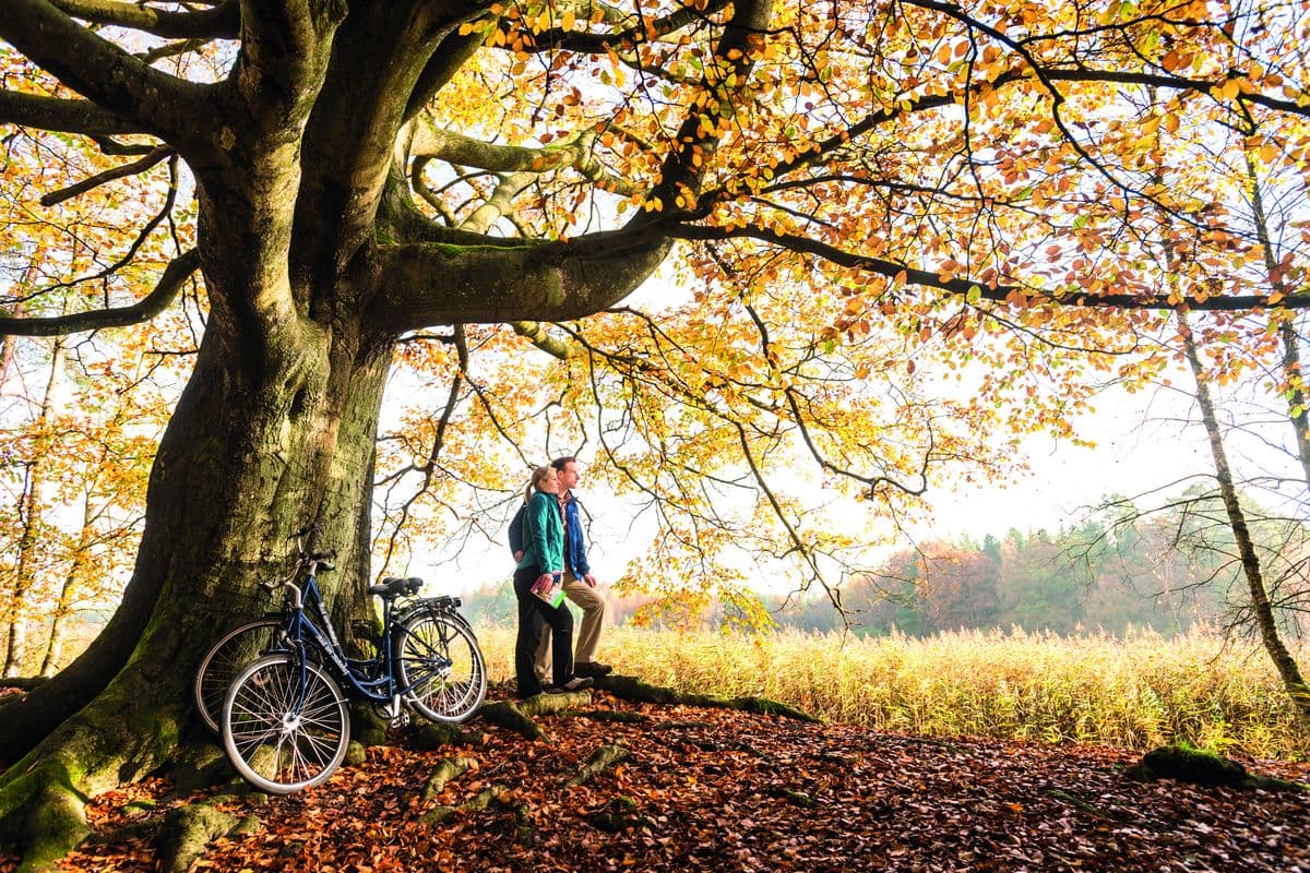
[[[645,220],[571,240],[504,240],[415,208],[406,148],[419,107],[482,45],[481,33],[458,33],[472,7],[244,3],[227,12],[240,17],[241,51],[227,79],[198,84],[143,64],[42,0],[0,5],[0,35],[94,102],[98,130],[147,130],[168,143],[198,195],[196,249],[136,306],[22,327],[39,335],[139,321],[196,268],[210,306],[118,611],[67,669],[0,704],[0,760],[10,763],[0,839],[17,838],[33,866],[85,834],[88,796],[160,767],[179,743],[210,742],[191,712],[193,670],[220,626],[269,607],[257,584],[286,571],[292,531],[316,521],[316,547],[338,552],[338,572],[324,579],[338,627],[369,609],[371,474],[398,336],[587,315],[630,293],[669,246]],[[503,152],[476,157],[495,166]],[[672,170],[668,179],[681,178]]]

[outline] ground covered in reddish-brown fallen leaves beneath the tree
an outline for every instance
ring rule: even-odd
[[[582,712],[542,716],[549,742],[474,722],[481,743],[417,751],[398,738],[318,789],[221,801],[259,825],[191,869],[1310,872],[1310,793],[1138,783],[1123,775],[1132,753],[893,737],[604,692]],[[612,712],[641,720],[595,715]],[[629,757],[565,785],[610,745]],[[476,768],[422,800],[455,755]],[[1244,763],[1310,781],[1310,766]],[[506,791],[485,810],[419,821],[494,787]],[[100,797],[96,842],[67,866],[156,870],[151,825],[216,793],[179,798],[148,780]]]

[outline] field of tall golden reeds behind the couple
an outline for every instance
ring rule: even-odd
[[[514,628],[479,627],[493,681],[514,677]],[[1306,664],[1305,652],[1297,652]],[[1310,760],[1310,737],[1255,645],[1217,633],[1127,639],[959,631],[761,635],[609,628],[600,657],[655,685],[764,695],[829,721],[926,737],[994,737]]]

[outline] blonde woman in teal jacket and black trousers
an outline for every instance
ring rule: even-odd
[[[519,636],[514,647],[514,673],[517,696],[541,694],[541,681],[532,669],[541,630],[550,626],[555,685],[546,691],[576,691],[591,686],[591,679],[572,674],[572,613],[563,599],[552,605],[537,596],[550,592],[565,569],[565,531],[559,516],[558,472],[554,467],[537,467],[524,495],[528,501],[523,514],[523,558],[514,571],[514,594],[519,598]]]

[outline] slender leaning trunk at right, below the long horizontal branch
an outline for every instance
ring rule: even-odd
[[[1183,338],[1183,351],[1187,364],[1196,378],[1196,403],[1201,408],[1201,421],[1205,424],[1205,436],[1209,438],[1210,455],[1214,458],[1214,476],[1220,483],[1220,493],[1224,499],[1224,509],[1227,513],[1229,526],[1233,529],[1233,538],[1237,542],[1238,554],[1242,559],[1242,572],[1246,575],[1247,590],[1251,596],[1251,613],[1255,615],[1256,626],[1260,630],[1260,640],[1264,650],[1273,661],[1273,668],[1282,679],[1282,687],[1296,708],[1301,722],[1310,728],[1310,687],[1301,678],[1301,670],[1296,658],[1279,636],[1279,627],[1273,618],[1273,607],[1269,603],[1269,594],[1264,586],[1264,576],[1260,568],[1260,558],[1255,554],[1255,544],[1251,541],[1251,531],[1246,524],[1246,513],[1238,503],[1237,486],[1233,483],[1233,471],[1229,467],[1227,453],[1224,450],[1224,435],[1220,431],[1218,418],[1214,415],[1214,401],[1210,398],[1209,385],[1205,381],[1205,369],[1201,359],[1196,353],[1196,342],[1187,325],[1187,317],[1178,313],[1179,334]]]

